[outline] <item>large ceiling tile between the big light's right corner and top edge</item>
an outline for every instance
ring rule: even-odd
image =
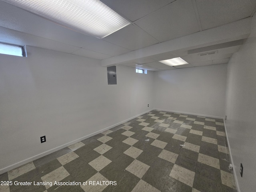
[[[160,42],[200,30],[192,1],[178,0],[137,20],[140,28]]]

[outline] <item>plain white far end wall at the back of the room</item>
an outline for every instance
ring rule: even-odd
[[[222,117],[226,64],[158,71],[154,74],[157,109]]]

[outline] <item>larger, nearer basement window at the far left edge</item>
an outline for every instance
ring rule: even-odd
[[[26,47],[20,45],[0,43],[0,54],[26,57]]]

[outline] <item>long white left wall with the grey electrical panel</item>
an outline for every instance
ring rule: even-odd
[[[153,107],[153,72],[117,66],[117,84],[108,85],[99,60],[30,46],[27,52],[0,55],[1,172]]]

